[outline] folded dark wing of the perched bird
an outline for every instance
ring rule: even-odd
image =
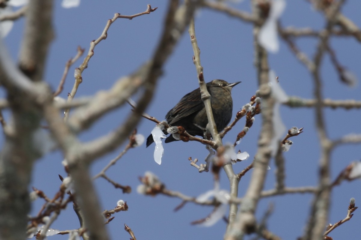
[[[200,89],[193,90],[192,92],[184,95],[184,97],[172,108],[165,116],[167,122],[172,125],[180,119],[198,112],[204,108],[203,101],[201,100]]]

